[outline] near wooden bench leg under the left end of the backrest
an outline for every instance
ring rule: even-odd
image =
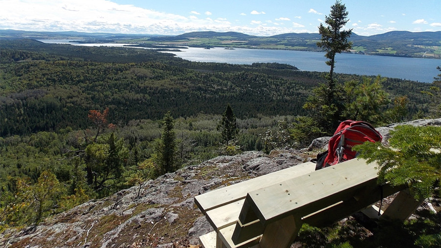
[[[302,227],[300,218],[290,215],[265,227],[259,248],[288,248]]]

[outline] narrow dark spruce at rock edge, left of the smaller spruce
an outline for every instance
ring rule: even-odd
[[[164,115],[161,138],[155,144],[153,154],[157,165],[157,175],[162,175],[176,170],[176,133],[174,132],[174,119],[170,111]]]

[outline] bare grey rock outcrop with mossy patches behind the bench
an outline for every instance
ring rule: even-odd
[[[441,125],[441,119],[406,124]],[[378,130],[387,140],[396,125]],[[212,228],[193,197],[306,162],[328,139],[320,138],[308,149],[276,150],[269,155],[248,151],[188,166],[149,180],[139,198],[134,186],[85,202],[37,226],[6,230],[0,234],[0,247],[197,247],[198,237]]]

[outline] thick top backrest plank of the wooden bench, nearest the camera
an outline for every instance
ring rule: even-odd
[[[267,222],[282,219],[293,212],[294,217],[301,218],[349,199],[367,185],[376,185],[376,167],[375,163],[367,165],[365,160],[352,159],[249,192],[245,201],[264,226]]]

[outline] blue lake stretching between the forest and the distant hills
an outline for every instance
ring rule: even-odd
[[[75,44],[68,40],[39,40],[45,43],[63,43],[75,46],[111,46],[122,47],[126,44]],[[300,70],[328,72],[324,52],[292,51],[292,50],[262,50],[224,48],[188,48],[180,52],[172,52],[177,57],[197,62],[217,62],[229,64],[283,63],[294,65]],[[336,73],[358,75],[381,75],[418,82],[433,82],[440,72],[440,59],[404,58],[390,56],[370,56],[353,53],[336,55]]]

